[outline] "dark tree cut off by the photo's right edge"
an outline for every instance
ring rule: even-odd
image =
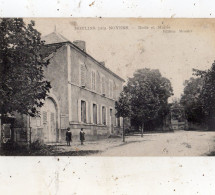
[[[200,93],[203,110],[208,121],[208,129],[215,128],[215,61],[207,71],[194,70],[194,74],[203,79],[203,86]]]

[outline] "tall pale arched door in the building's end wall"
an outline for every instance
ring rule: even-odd
[[[44,142],[57,141],[57,110],[54,102],[47,98],[44,106],[41,108],[43,118],[43,136]]]

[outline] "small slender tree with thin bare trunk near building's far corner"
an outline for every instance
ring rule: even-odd
[[[120,93],[119,100],[115,102],[116,117],[123,117],[123,142],[125,142],[125,118],[131,114],[130,96],[125,91]]]

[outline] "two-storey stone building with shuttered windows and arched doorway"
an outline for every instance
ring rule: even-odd
[[[65,141],[66,128],[73,138],[84,128],[86,139],[108,137],[120,131],[115,101],[124,80],[86,52],[84,41],[71,42],[57,32],[43,37],[50,64],[45,77],[52,89],[40,109],[30,118],[31,141]]]

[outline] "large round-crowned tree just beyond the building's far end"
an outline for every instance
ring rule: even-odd
[[[130,104],[130,116],[143,134],[144,123],[163,118],[168,98],[173,94],[170,81],[159,70],[139,69],[123,89]]]

